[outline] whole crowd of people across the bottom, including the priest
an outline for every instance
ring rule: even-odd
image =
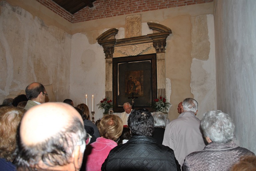
[[[132,110],[129,103],[121,115],[105,115],[95,125],[87,105],[44,103],[46,96],[42,84],[32,83],[28,99],[19,95],[0,106],[0,170],[256,169],[255,154],[232,140],[230,116],[209,111],[200,121],[192,98],[167,125],[162,112]]]

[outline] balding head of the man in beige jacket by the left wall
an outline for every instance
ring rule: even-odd
[[[41,83],[31,83],[26,87],[26,96],[29,100],[35,99],[41,92],[45,91],[45,87]]]

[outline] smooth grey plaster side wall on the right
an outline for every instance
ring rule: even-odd
[[[256,1],[215,1],[217,109],[235,123],[238,145],[256,153]]]

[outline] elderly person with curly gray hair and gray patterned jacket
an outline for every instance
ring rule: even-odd
[[[235,125],[228,114],[221,111],[204,113],[201,128],[208,144],[185,158],[183,170],[229,170],[241,156],[254,155],[232,141]]]

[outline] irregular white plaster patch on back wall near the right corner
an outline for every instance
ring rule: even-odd
[[[216,110],[216,69],[213,15],[207,15],[210,52],[208,60],[193,58],[191,64],[191,92],[198,103],[196,117],[200,120],[207,111]]]

